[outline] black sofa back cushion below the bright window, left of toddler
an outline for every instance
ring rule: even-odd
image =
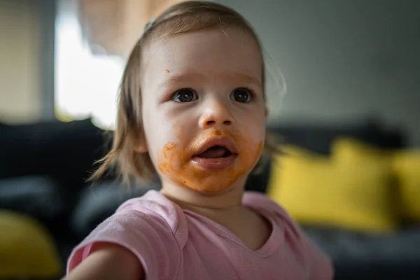
[[[90,120],[0,127],[0,178],[46,175],[76,188],[102,155],[103,131]]]

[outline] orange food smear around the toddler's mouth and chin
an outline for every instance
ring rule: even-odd
[[[230,167],[205,170],[192,162],[200,146],[212,136],[230,137],[236,144],[237,159]],[[168,142],[158,152],[158,169],[163,176],[179,186],[202,193],[217,193],[230,188],[238,179],[251,172],[262,153],[263,141],[253,143],[231,131],[207,130],[185,146]]]

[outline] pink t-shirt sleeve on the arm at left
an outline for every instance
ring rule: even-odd
[[[118,244],[134,253],[143,265],[147,279],[173,277],[179,267],[179,246],[165,219],[158,215],[125,211],[107,218],[73,249],[67,262],[67,273],[87,258],[92,244],[97,242]]]

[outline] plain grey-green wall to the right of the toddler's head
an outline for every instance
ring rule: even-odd
[[[219,0],[260,35],[288,94],[272,119],[379,117],[420,146],[420,1]]]

